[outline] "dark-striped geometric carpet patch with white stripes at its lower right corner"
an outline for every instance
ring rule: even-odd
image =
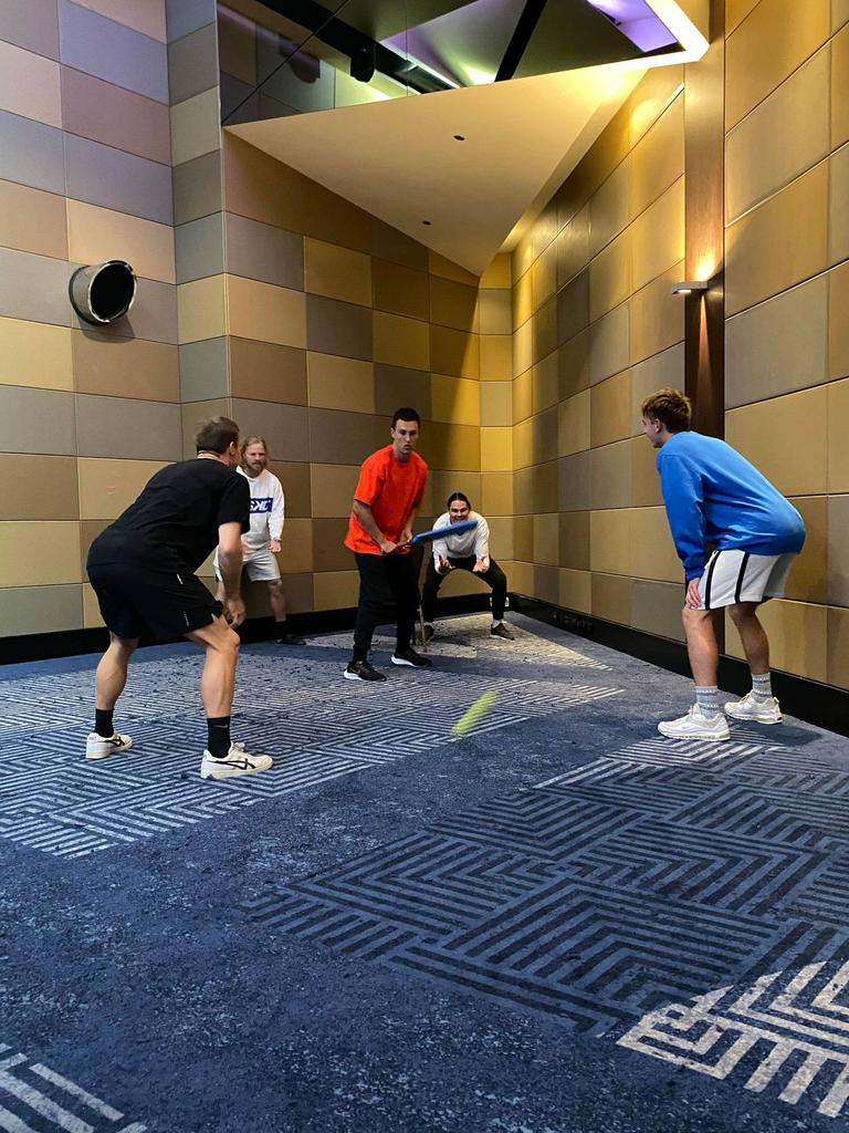
[[[242,912],[835,1117],[849,774],[766,731],[629,744]]]

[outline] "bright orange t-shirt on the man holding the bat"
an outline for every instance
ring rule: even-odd
[[[392,445],[378,449],[362,462],[354,500],[371,508],[375,522],[387,539],[397,543],[413,508],[424,493],[428,466],[417,452],[402,463]],[[380,548],[351,512],[345,546],[358,554],[379,555]]]

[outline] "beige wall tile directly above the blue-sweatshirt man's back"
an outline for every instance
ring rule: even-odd
[[[826,386],[726,414],[726,440],[784,495],[826,491]],[[834,418],[832,418],[834,419]]]

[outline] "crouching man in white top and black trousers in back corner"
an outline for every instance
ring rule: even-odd
[[[504,611],[507,605],[507,577],[495,559],[490,559],[489,523],[477,511],[472,511],[469,497],[462,492],[454,492],[449,495],[446,506],[448,510],[437,519],[434,527],[449,527],[452,523],[462,523],[466,519],[477,519],[478,526],[471,531],[463,531],[462,535],[449,535],[444,539],[434,539],[434,554],[428,560],[421,597],[424,640],[429,641],[434,636],[436,596],[443,580],[453,570],[468,570],[492,588],[490,634],[504,638],[506,641],[513,641],[513,634],[504,624]]]

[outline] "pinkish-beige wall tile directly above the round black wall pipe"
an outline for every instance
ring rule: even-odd
[[[70,259],[77,263],[126,259],[144,279],[175,282],[174,230],[169,224],[69,199],[68,244]]]

